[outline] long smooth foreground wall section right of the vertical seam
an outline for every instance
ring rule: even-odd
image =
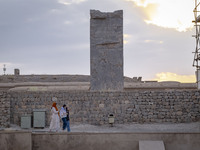
[[[200,133],[32,133],[32,150],[141,150],[140,141],[163,141],[165,150],[199,150],[199,139]]]

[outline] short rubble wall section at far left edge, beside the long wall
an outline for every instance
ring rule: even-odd
[[[7,92],[0,91],[0,128],[10,126],[10,100]]]

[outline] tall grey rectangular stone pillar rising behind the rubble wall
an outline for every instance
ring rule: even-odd
[[[90,89],[124,88],[123,11],[90,10]]]

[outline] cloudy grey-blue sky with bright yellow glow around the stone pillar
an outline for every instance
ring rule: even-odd
[[[90,10],[123,10],[124,75],[196,82],[191,0],[0,0],[0,75],[90,74]]]

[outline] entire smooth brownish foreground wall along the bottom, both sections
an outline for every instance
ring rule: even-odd
[[[199,150],[200,133],[87,133],[0,131],[1,150],[139,150],[163,141],[166,150]]]

